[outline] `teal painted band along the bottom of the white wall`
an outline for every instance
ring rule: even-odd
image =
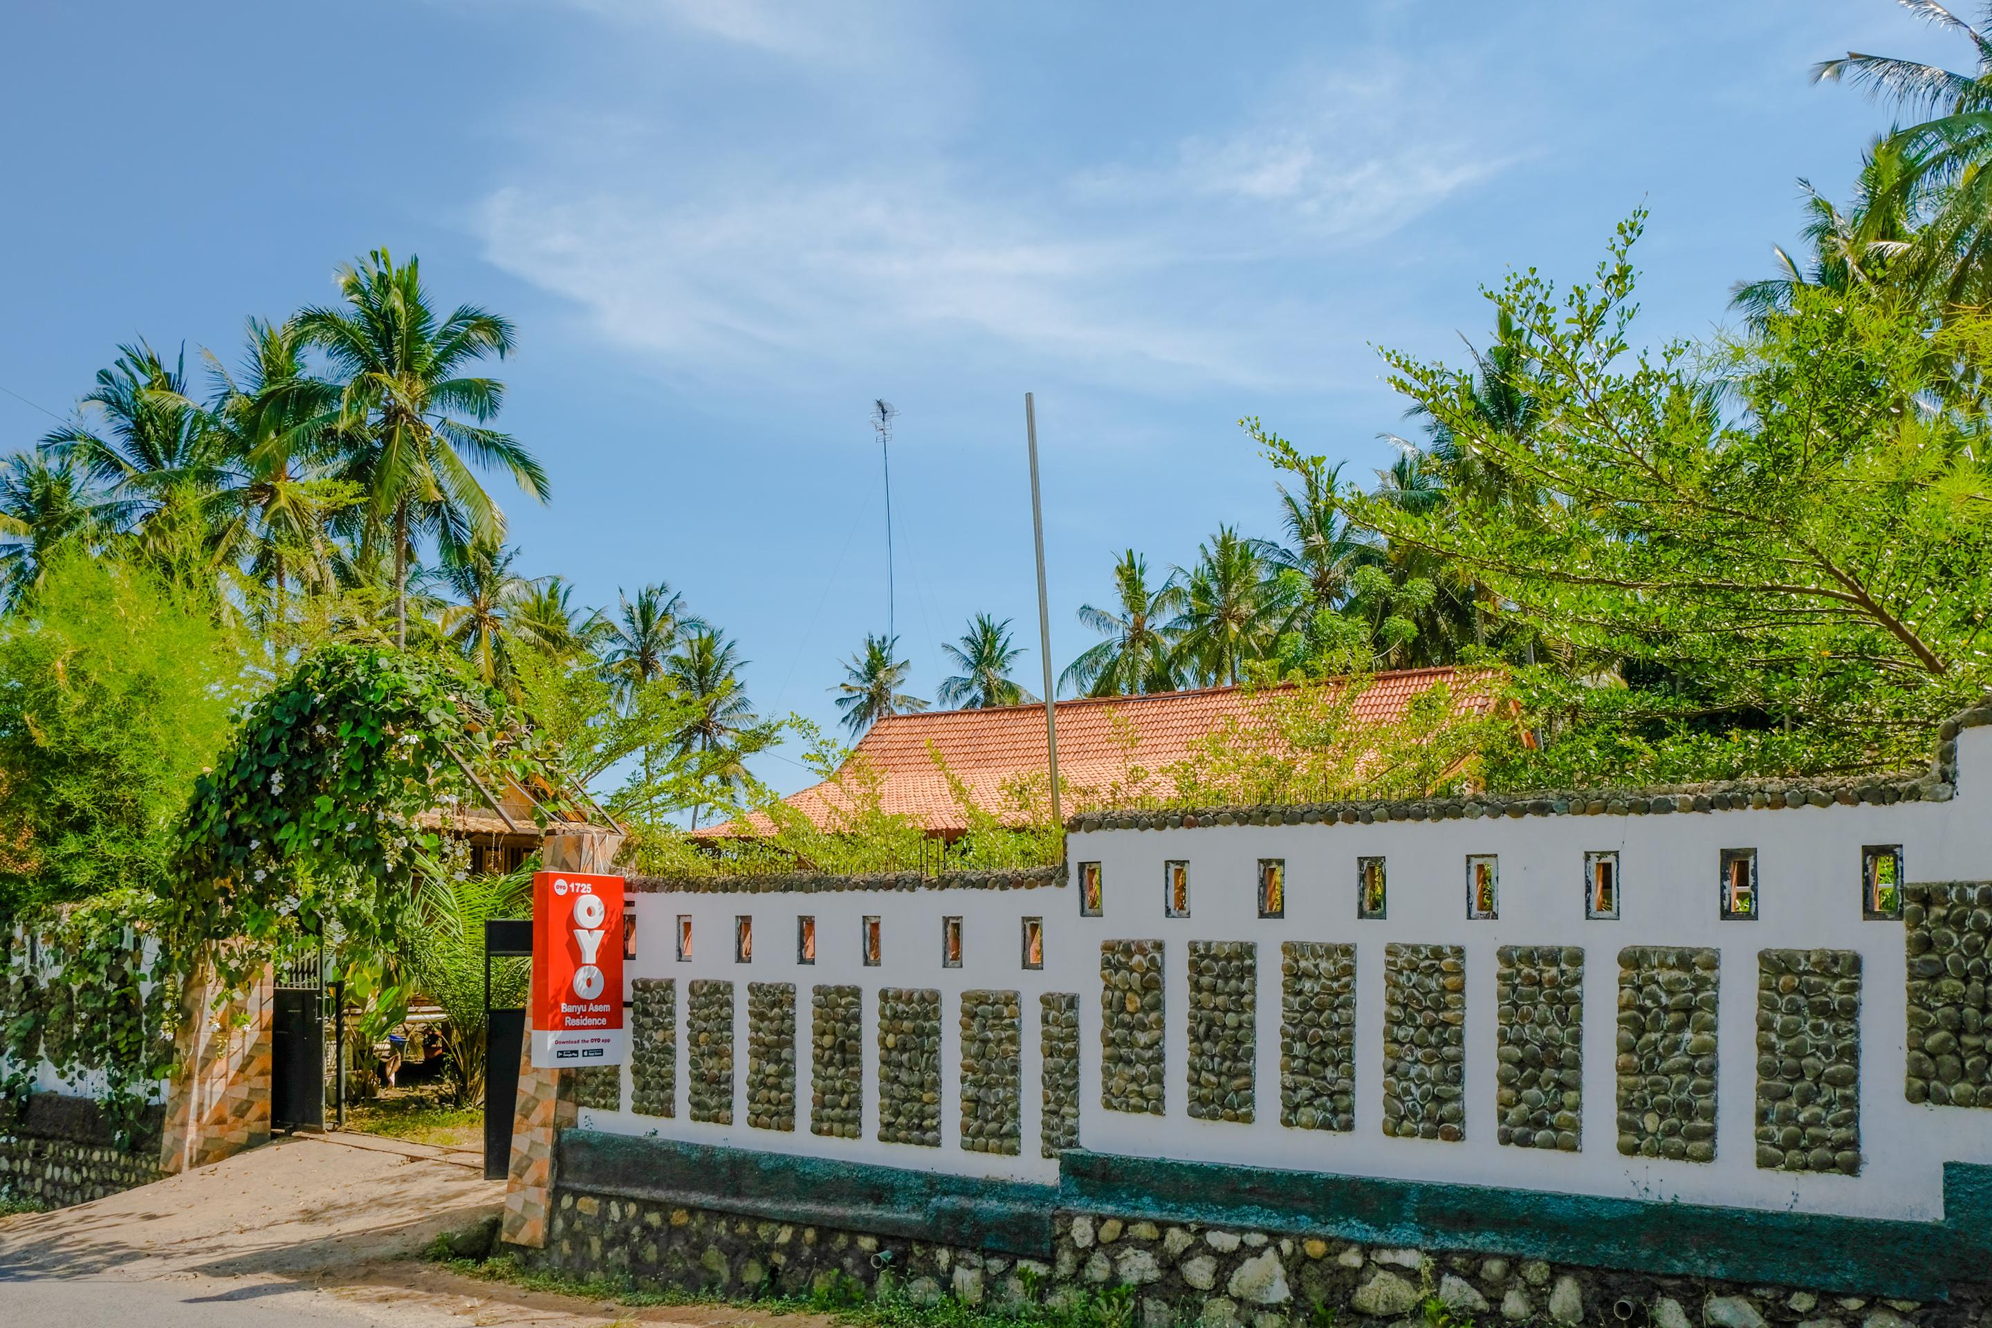
[[[1992,1167],[1944,1169],[1944,1220],[1719,1209],[1068,1151],[1058,1187],[568,1131],[562,1193],[1052,1258],[1058,1215],[1474,1250],[1604,1270],[1944,1300],[1992,1282]]]

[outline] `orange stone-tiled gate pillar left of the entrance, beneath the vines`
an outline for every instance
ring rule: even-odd
[[[167,1175],[219,1163],[269,1141],[269,968],[229,994],[201,964],[181,994],[179,1065],[165,1095],[159,1169]]]

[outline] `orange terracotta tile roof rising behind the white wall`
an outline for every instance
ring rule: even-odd
[[[1378,673],[1357,697],[1355,717],[1361,723],[1382,725],[1404,713],[1412,697],[1436,683],[1454,683],[1458,705],[1472,715],[1486,715],[1494,705],[1492,673],[1462,669],[1404,669]],[[1474,687],[1474,683],[1482,683]],[[1080,790],[1106,790],[1127,780],[1127,767],[1161,771],[1183,761],[1195,743],[1231,717],[1249,715],[1253,693],[1241,687],[1205,687],[1201,691],[1169,691],[1147,697],[1098,697],[1058,703],[1058,776],[1060,784]],[[1139,743],[1129,749],[1127,739]],[[940,751],[948,771],[960,778],[978,806],[1000,808],[1002,786],[1020,775],[1046,769],[1044,707],[1006,705],[986,711],[924,711],[892,715],[872,725],[857,745],[853,761],[863,757],[882,776],[882,808],[910,816],[934,832],[964,830],[948,782],[934,767],[928,745]],[[785,798],[825,822],[825,808],[843,798],[829,782],[815,784]],[[757,818],[765,830],[765,818]],[[737,826],[703,826],[697,836],[739,834]]]

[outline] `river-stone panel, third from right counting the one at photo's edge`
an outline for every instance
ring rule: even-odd
[[[1717,974],[1715,950],[1619,950],[1619,1153],[1715,1161]]]

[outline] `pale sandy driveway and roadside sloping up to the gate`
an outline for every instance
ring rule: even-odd
[[[773,1322],[629,1308],[464,1278],[418,1260],[498,1213],[474,1149],[299,1135],[98,1203],[0,1218],[0,1322],[78,1328],[277,1324]],[[785,1316],[783,1328],[829,1328]]]

